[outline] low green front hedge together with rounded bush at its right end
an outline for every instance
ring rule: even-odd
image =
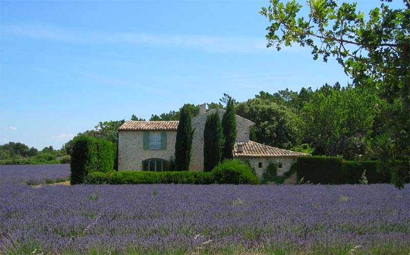
[[[238,160],[226,160],[211,172],[190,171],[119,171],[90,172],[87,184],[258,184],[252,169]]]

